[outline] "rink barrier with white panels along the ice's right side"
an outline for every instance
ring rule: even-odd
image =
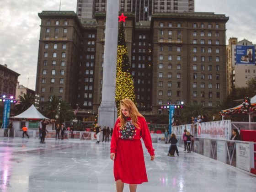
[[[184,148],[182,136],[177,139],[177,146]],[[191,151],[244,171],[255,168],[253,142],[193,137]]]

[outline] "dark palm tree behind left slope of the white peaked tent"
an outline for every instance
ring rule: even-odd
[[[19,96],[19,101],[14,106],[14,114],[18,115],[21,112],[26,111],[32,104],[35,102],[35,98],[32,94],[24,94],[23,96]]]

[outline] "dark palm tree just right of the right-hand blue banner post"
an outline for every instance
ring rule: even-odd
[[[197,117],[198,115],[203,115],[204,113],[204,107],[201,102],[191,102],[181,110],[181,119],[182,122],[187,123],[191,120],[191,117]]]

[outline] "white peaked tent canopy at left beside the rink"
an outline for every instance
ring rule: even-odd
[[[40,112],[38,112],[37,108],[32,105],[29,107],[25,112],[22,112],[19,115],[16,115],[14,117],[10,117],[11,120],[15,119],[33,119],[33,120],[42,120],[42,119],[49,119],[47,117],[44,117]]]

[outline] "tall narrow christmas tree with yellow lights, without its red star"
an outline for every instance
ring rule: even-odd
[[[120,102],[126,98],[135,101],[133,77],[130,72],[128,52],[124,40],[123,22],[121,22],[118,27],[117,44],[116,105],[118,115],[120,114]]]

